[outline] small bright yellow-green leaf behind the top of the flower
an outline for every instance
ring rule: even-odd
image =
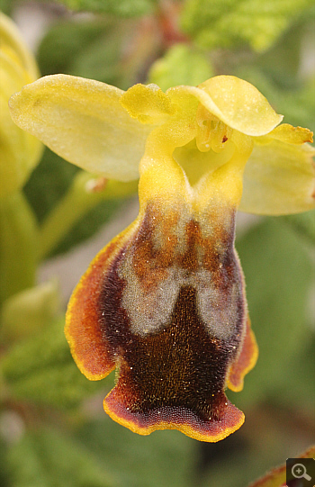
[[[175,44],[150,68],[148,82],[166,91],[171,86],[197,86],[212,76],[211,63],[205,53],[186,44]]]

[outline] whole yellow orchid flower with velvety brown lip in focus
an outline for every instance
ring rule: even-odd
[[[141,435],[227,437],[244,414],[225,389],[240,391],[257,361],[235,215],[314,208],[311,132],[279,125],[266,98],[230,76],[163,93],[56,75],[10,106],[19,127],[77,166],[139,177],[138,218],[94,258],[67,309],[81,372],[117,371],[104,410]]]

